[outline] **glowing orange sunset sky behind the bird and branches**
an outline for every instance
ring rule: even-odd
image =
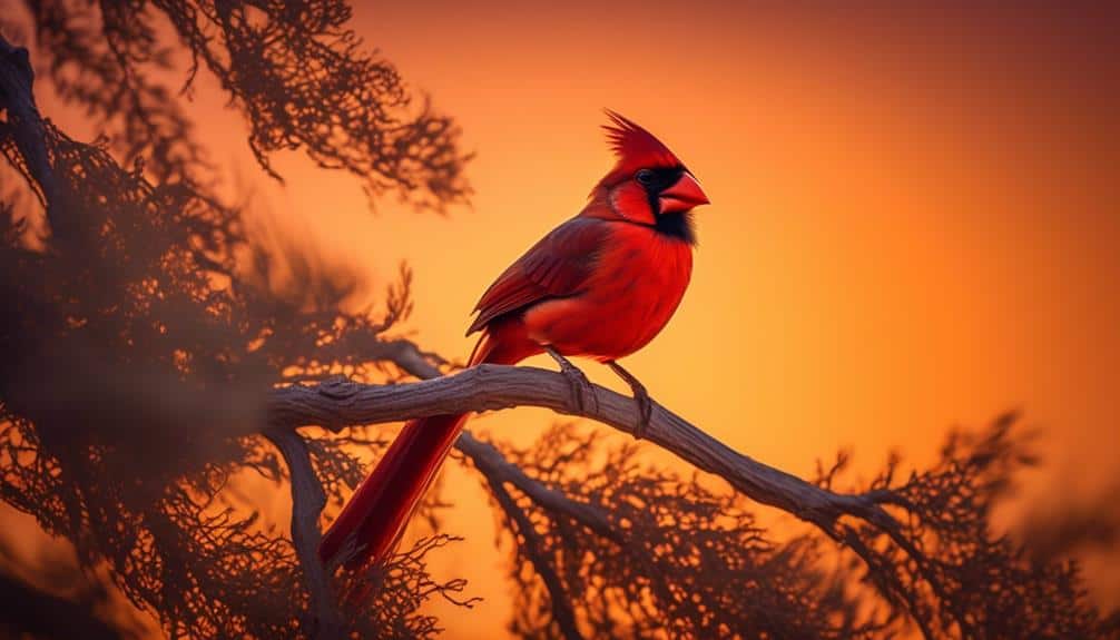
[[[844,446],[868,471],[896,446],[927,461],[948,426],[1021,407],[1047,433],[1032,496],[1117,481],[1114,10],[360,4],[358,31],[477,152],[473,208],[371,215],[356,180],[298,153],[277,158],[284,187],[258,181],[230,133],[240,117],[206,91],[197,114],[215,159],[241,166],[332,260],[381,282],[413,265],[426,347],[465,357],[478,294],[579,210],[610,164],[598,131],[609,106],[661,137],[712,200],[681,309],[627,363],[661,403],[801,474]],[[517,410],[483,424],[524,443],[549,420]],[[450,473],[464,507],[447,529],[469,539],[439,571],[486,601],[436,610],[449,637],[492,637],[510,602],[494,517],[477,479]],[[1105,570],[1091,577],[1101,593],[1120,587]]]

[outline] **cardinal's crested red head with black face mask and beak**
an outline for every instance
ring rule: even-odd
[[[607,115],[604,129],[618,161],[591,198],[614,216],[693,242],[692,208],[709,201],[696,177],[652,133],[613,111]]]

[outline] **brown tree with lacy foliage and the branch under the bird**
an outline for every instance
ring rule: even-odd
[[[343,2],[28,8],[37,66],[108,138],[77,142],[45,120],[27,50],[0,41],[0,151],[41,205],[2,211],[0,496],[71,540],[81,567],[103,568],[168,636],[433,636],[427,599],[472,603],[464,580],[424,571],[454,537],[357,575],[315,554],[321,511],[363,473],[348,448],[385,444],[366,425],[533,405],[629,432],[633,405],[595,387],[585,406],[540,369],[456,373],[394,338],[411,311],[407,269],[379,316],[340,311],[356,276],[246,237],[242,211],[213,195],[217,177],[178,94],[152,69],[169,68],[177,45],[193,63],[187,87],[203,69],[218,78],[264,171],[272,151],[300,149],[372,197],[392,191],[420,208],[469,192],[454,122],[412,106],[393,67],[346,28]],[[28,230],[34,215],[46,237]],[[281,262],[295,276],[278,288]],[[842,490],[843,458],[806,481],[660,405],[650,445],[691,476],[570,423],[524,450],[470,432],[457,449],[512,543],[519,636],[1120,637],[1073,563],[1032,557],[991,529],[996,500],[1034,462],[1015,422],[950,436],[930,469],[904,476],[890,460]],[[306,426],[325,430],[297,431]],[[288,484],[287,531],[242,490],[253,478]],[[803,526],[778,536],[754,503]],[[438,508],[438,497],[426,507]],[[40,606],[58,597],[12,581]],[[54,632],[21,620],[6,623]]]

